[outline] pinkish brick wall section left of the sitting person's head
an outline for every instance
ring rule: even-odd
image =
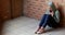
[[[46,2],[46,0],[26,0],[24,2],[24,14],[26,16],[40,19],[48,7]]]

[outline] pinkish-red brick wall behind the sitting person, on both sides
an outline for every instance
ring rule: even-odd
[[[48,9],[49,0],[24,0],[24,15],[40,20]],[[56,8],[61,5],[62,22],[65,23],[65,0],[52,0]]]

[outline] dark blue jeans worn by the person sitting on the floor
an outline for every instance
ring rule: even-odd
[[[44,14],[39,26],[46,27],[47,25],[49,25],[50,27],[57,27],[58,23],[56,23],[53,16],[51,16],[50,14]]]

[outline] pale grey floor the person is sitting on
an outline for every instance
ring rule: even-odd
[[[35,34],[40,21],[21,16],[5,22],[2,35],[65,35],[65,28],[53,30],[48,27],[46,30],[52,30],[43,34]]]

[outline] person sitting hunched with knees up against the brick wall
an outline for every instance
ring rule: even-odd
[[[42,16],[42,20],[39,24],[38,30],[35,32],[36,34],[41,34],[44,32],[44,28],[47,25],[50,27],[58,27],[60,23],[60,12],[55,9],[55,5],[53,2],[49,2],[50,10],[48,10],[44,15]]]

